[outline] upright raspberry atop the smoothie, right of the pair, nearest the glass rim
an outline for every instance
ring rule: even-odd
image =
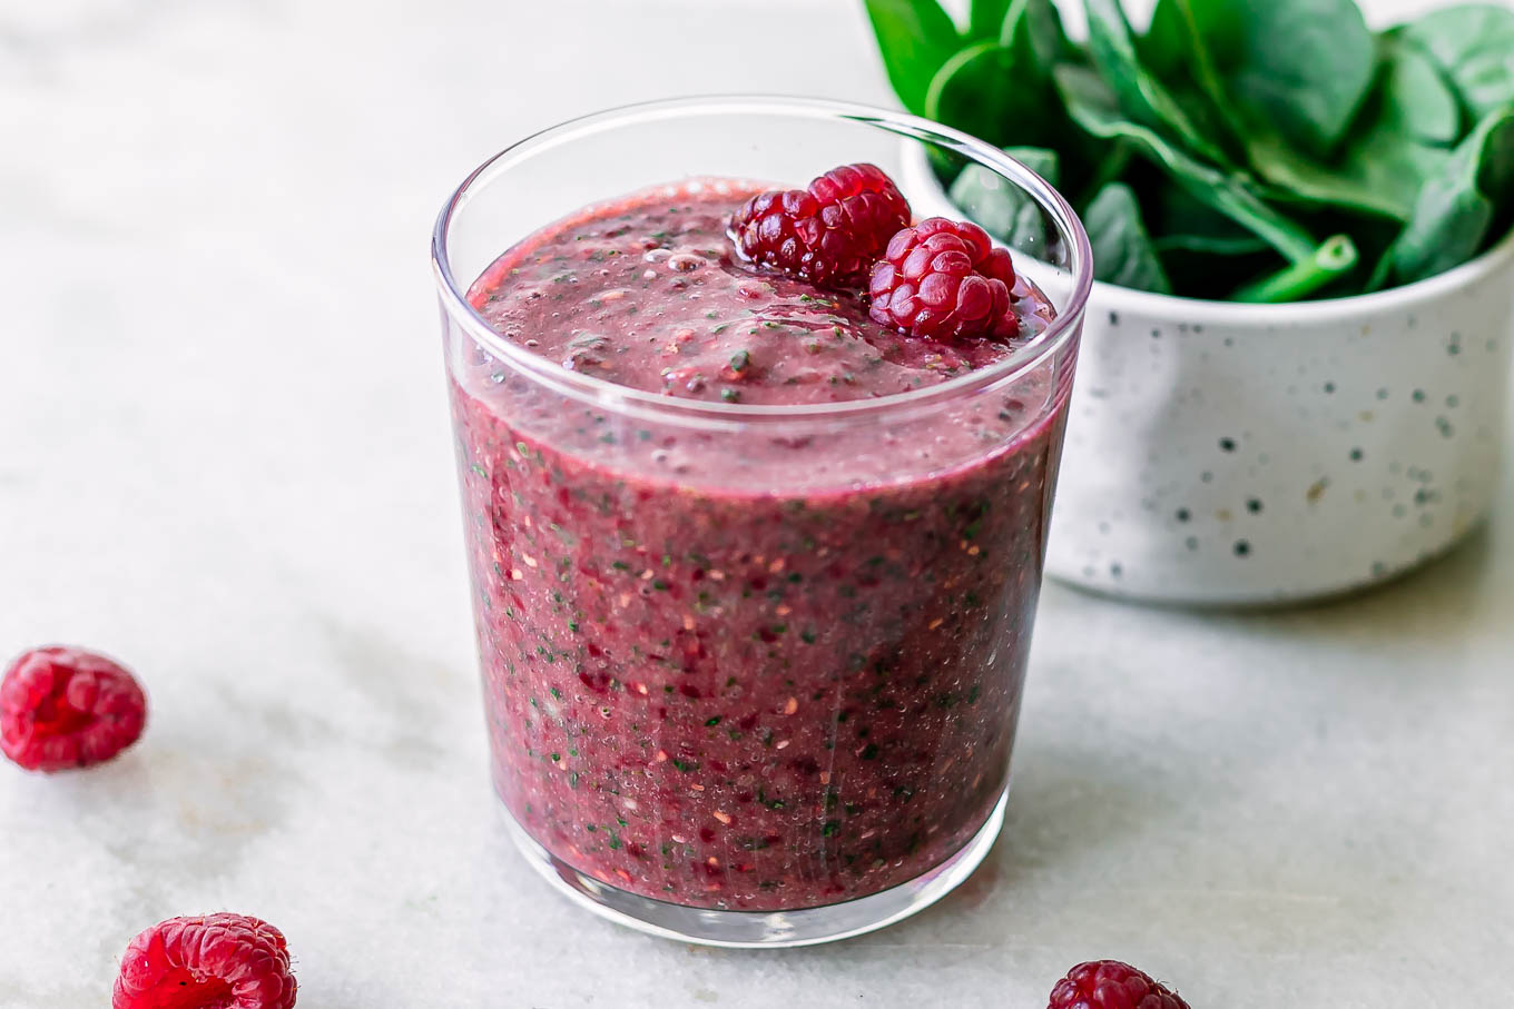
[[[1007,340],[1020,328],[1013,289],[1014,263],[987,231],[930,218],[895,234],[872,265],[869,315],[910,336]]]

